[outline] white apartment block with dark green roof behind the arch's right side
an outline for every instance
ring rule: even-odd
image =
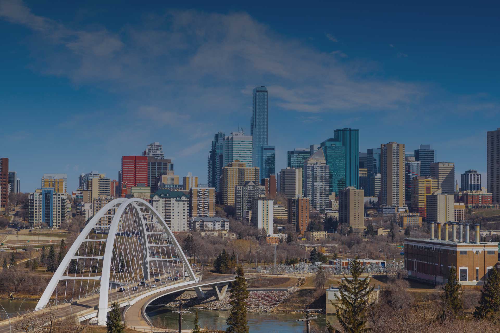
[[[165,220],[171,231],[187,230],[189,196],[183,192],[158,190],[150,195],[151,206]]]

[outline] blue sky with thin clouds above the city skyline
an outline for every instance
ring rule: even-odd
[[[499,5],[403,3],[0,0],[0,156],[22,191],[52,172],[74,190],[159,141],[204,183],[213,132],[249,133],[251,89],[266,85],[278,169],[352,127],[360,151],[431,144],[456,179],[474,168],[485,184]]]

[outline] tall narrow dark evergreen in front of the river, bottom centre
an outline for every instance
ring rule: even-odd
[[[231,295],[229,304],[231,312],[226,320],[227,333],[248,333],[248,325],[246,321],[246,299],[248,291],[246,290],[246,282],[243,277],[243,268],[238,266],[236,269],[236,280],[232,283]]]

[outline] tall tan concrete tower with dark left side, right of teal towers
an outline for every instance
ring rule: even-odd
[[[404,144],[380,145],[380,203],[404,205]]]

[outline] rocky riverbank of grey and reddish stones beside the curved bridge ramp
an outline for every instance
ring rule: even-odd
[[[287,299],[293,292],[289,291],[251,291],[249,292],[247,303],[249,312],[263,313],[273,312],[276,307]],[[221,301],[217,301],[213,291],[206,292],[206,298],[198,300],[193,292],[185,292],[174,299],[161,298],[151,303],[151,305],[161,304],[167,307],[178,307],[182,301],[183,307],[199,307],[210,310],[229,310],[229,292]]]

